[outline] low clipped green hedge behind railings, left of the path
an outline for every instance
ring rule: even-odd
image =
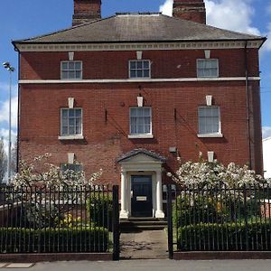
[[[0,253],[107,252],[107,229],[0,228]]]

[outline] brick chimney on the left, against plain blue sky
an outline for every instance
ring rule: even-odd
[[[101,18],[101,0],[74,0],[72,26]]]

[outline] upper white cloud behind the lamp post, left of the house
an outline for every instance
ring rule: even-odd
[[[12,98],[12,127],[17,127],[18,97]],[[0,102],[0,123],[8,124],[9,120],[9,100]]]

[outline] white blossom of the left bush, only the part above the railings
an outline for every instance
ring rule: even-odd
[[[33,159],[33,163],[28,164],[25,161],[20,162],[20,172],[15,174],[11,185],[14,188],[44,186],[49,187],[82,187],[86,185],[95,185],[102,174],[102,169],[98,173],[93,173],[90,178],[86,177],[83,171],[75,172],[72,170],[61,171],[59,166],[45,163],[51,157],[51,154],[44,154]],[[43,171],[39,171],[43,168]]]

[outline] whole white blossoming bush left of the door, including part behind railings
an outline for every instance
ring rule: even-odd
[[[87,193],[83,190],[95,188],[102,174],[100,170],[88,179],[83,171],[62,172],[60,167],[47,163],[50,157],[51,154],[35,157],[30,164],[22,161],[20,172],[11,182],[14,191],[17,191],[16,201],[23,202],[23,217],[27,218],[27,226],[33,229],[60,226],[67,211],[69,213],[75,206],[87,201]],[[10,196],[14,201],[16,193]],[[81,223],[77,221],[76,224]]]

